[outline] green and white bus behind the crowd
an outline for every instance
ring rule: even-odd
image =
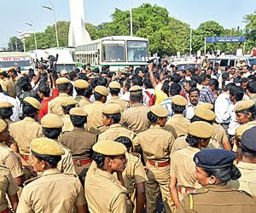
[[[102,37],[75,50],[77,67],[90,64],[91,68],[110,66],[110,71],[124,71],[133,65],[148,65],[148,39],[143,37]]]

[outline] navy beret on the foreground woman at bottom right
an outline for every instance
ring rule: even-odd
[[[220,169],[236,159],[236,154],[224,149],[204,149],[196,153],[193,160],[196,166],[207,169]]]

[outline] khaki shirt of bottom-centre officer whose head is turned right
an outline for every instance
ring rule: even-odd
[[[87,173],[84,188],[90,212],[126,212],[126,188],[107,171],[94,168]]]

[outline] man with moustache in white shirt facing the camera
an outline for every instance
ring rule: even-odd
[[[202,102],[199,101],[200,91],[197,88],[189,89],[189,103],[185,110],[185,117],[191,119],[195,115],[195,107],[200,105]]]

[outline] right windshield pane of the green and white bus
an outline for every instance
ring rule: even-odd
[[[148,42],[127,41],[128,62],[148,61]]]

